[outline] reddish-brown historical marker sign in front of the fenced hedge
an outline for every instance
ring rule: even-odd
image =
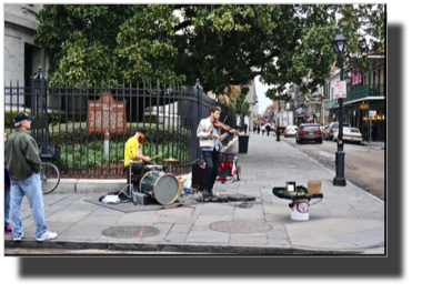
[[[125,102],[117,102],[109,92],[104,92],[97,101],[89,100],[87,131],[125,132]]]

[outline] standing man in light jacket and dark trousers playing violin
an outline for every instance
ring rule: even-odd
[[[199,138],[199,145],[202,149],[203,160],[207,163],[205,173],[203,175],[203,201],[215,200],[217,196],[212,193],[212,188],[217,179],[220,166],[220,145],[219,140],[224,140],[228,133],[220,137],[220,129],[217,129],[213,123],[220,118],[221,109],[219,107],[211,107],[209,109],[210,117],[202,119],[199,122],[197,137]],[[235,130],[231,130],[235,133]]]

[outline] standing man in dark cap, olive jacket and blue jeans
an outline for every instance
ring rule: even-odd
[[[21,241],[23,236],[20,208],[23,195],[29,200],[33,220],[36,222],[37,241],[52,240],[57,233],[49,232],[44,222],[44,201],[41,189],[41,159],[36,140],[27,133],[31,128],[31,120],[23,112],[13,118],[17,128],[9,135],[4,144],[6,162],[11,181],[11,222],[13,241]]]

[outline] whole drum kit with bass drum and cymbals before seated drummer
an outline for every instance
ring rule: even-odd
[[[159,155],[157,155],[159,156]],[[157,158],[154,156],[154,158]],[[153,158],[151,158],[153,159]],[[180,194],[180,182],[179,180],[172,175],[171,173],[171,163],[177,162],[179,160],[177,159],[163,159],[163,162],[170,162],[170,169],[169,173],[165,173],[162,165],[158,164],[145,164],[142,179],[139,183],[139,192],[142,194],[148,194],[151,198],[155,199],[157,202],[159,202],[162,205],[170,205],[173,203],[179,194]],[[132,184],[132,163],[143,163],[142,161],[137,160],[120,160],[120,162],[129,162],[129,184],[127,184],[121,192],[125,190],[125,188],[129,188],[129,199],[132,200],[134,204],[135,199],[135,190],[133,189]]]

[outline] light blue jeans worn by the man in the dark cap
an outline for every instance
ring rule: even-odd
[[[40,236],[47,232],[44,222],[44,201],[42,200],[42,189],[40,173],[33,173],[23,180],[10,180],[11,182],[11,221],[13,235],[22,234],[22,219],[20,206],[23,195],[29,200],[33,220],[36,221],[36,235]]]

